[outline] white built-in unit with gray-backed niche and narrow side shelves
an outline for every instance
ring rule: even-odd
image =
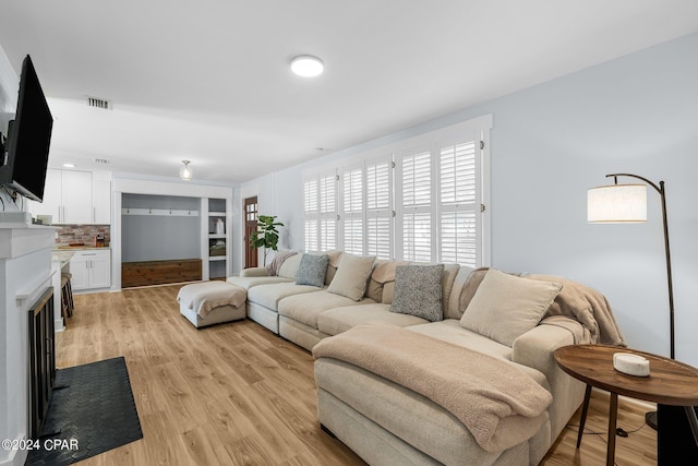
[[[111,225],[112,290],[122,288],[128,262],[196,259],[203,280],[232,275],[231,187],[122,177],[112,187],[113,210],[121,213]],[[216,237],[218,218],[222,237]],[[218,241],[225,242],[225,255],[210,254]]]

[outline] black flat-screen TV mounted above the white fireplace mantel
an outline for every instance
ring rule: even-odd
[[[17,111],[10,123],[0,184],[41,202],[53,117],[28,55],[22,63]]]

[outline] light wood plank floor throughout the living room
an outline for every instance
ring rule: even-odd
[[[362,465],[316,419],[312,356],[252,321],[196,330],[179,314],[179,286],[75,296],[58,336],[59,368],[124,356],[143,439],[85,465]],[[587,430],[605,432],[607,396],[592,396]],[[621,401],[618,426],[643,425]],[[577,414],[578,416],[578,414]],[[570,423],[578,422],[577,416]],[[566,429],[541,463],[605,463],[605,433]],[[654,465],[649,427],[618,438],[616,464]]]

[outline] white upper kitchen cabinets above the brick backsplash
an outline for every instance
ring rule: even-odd
[[[101,171],[46,172],[44,202],[31,202],[34,216],[50,215],[53,224],[111,223],[111,175]]]

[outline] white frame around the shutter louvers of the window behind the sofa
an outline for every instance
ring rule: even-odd
[[[490,208],[490,167],[491,167],[491,151],[490,151],[490,134],[493,128],[492,115],[485,115],[482,117],[473,118],[468,121],[464,121],[457,124],[445,127],[442,129],[424,132],[414,136],[405,138],[392,144],[386,144],[374,150],[360,152],[353,156],[347,156],[344,159],[338,160],[333,165],[333,169],[317,170],[304,176],[306,179],[315,177],[320,179],[323,174],[334,172],[336,175],[336,228],[335,228],[335,244],[341,249],[345,249],[345,227],[350,219],[361,220],[362,243],[360,248],[352,247],[350,252],[361,253],[364,255],[378,255],[373,248],[373,244],[369,243],[369,223],[372,219],[385,219],[389,218],[387,223],[383,222],[383,225],[387,225],[387,236],[390,238],[387,250],[389,251],[389,258],[382,256],[381,259],[390,260],[404,260],[406,256],[406,241],[405,226],[406,218],[410,215],[423,215],[429,214],[430,226],[430,242],[429,242],[429,258],[416,256],[407,254],[409,258],[414,258],[420,262],[444,262],[443,259],[446,255],[444,252],[444,238],[442,232],[445,231],[445,226],[442,225],[444,214],[455,212],[468,213],[467,216],[474,217],[476,240],[474,247],[474,261],[461,259],[465,256],[456,255],[459,263],[469,266],[489,266],[491,264],[491,208]],[[472,135],[469,139],[469,135]],[[474,187],[476,187],[476,200],[470,203],[467,208],[462,207],[462,203],[449,203],[442,200],[441,190],[441,177],[442,177],[442,150],[444,147],[456,146],[459,144],[474,142]],[[421,152],[420,152],[421,151]],[[406,157],[411,157],[414,154],[421,154],[424,152],[430,153],[430,180],[429,189],[431,201],[429,205],[405,205],[405,160]],[[380,210],[380,213],[369,208],[369,167],[374,167],[376,164],[387,164],[389,167],[389,182],[388,182],[388,198],[389,206],[387,208]],[[354,174],[360,170],[361,179],[361,204],[362,212],[345,212],[344,201],[347,193],[345,192],[344,182],[346,174]],[[456,180],[456,186],[458,181]],[[305,204],[305,184],[303,184],[303,203]],[[309,219],[309,215],[305,212],[305,205],[303,205],[304,223]],[[472,213],[472,215],[470,214]],[[312,215],[310,215],[312,217]],[[305,225],[305,224],[304,224]],[[320,226],[317,227],[320,230]],[[376,228],[375,231],[380,232],[382,229]],[[320,240],[320,231],[317,231],[318,240],[316,244],[322,246]],[[308,238],[303,238],[304,243],[308,244]],[[354,244],[356,246],[356,244]],[[456,243],[457,247],[457,243]],[[456,254],[459,254],[456,250]],[[466,254],[466,253],[464,253]],[[467,254],[466,254],[467,255]],[[424,261],[428,259],[426,261]]]

